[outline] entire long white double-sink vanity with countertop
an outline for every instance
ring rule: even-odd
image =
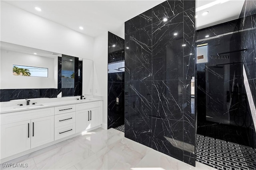
[[[38,99],[42,103],[34,105],[1,106],[1,163],[100,127],[102,98],[92,97],[48,98]]]

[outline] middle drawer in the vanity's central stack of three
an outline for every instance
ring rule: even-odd
[[[54,127],[76,123],[76,112],[54,115]]]

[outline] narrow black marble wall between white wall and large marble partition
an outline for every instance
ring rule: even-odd
[[[124,39],[108,32],[108,64],[120,61],[124,61]],[[108,129],[120,125],[124,125],[124,72],[109,72]]]

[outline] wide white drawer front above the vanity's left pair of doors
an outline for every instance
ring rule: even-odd
[[[1,125],[54,115],[54,107],[1,114]]]

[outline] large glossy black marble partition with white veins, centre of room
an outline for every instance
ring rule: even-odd
[[[193,166],[194,10],[165,1],[125,22],[125,137]]]

